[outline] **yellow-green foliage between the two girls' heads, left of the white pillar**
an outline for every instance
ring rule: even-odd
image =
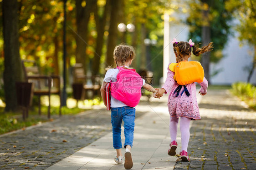
[[[134,42],[133,34],[127,34],[127,43],[134,45],[136,48],[136,59],[133,66],[138,71],[141,69],[141,57],[143,53],[143,32],[145,38],[156,40],[155,46],[149,47],[149,60],[146,61],[146,69],[151,65],[154,73],[155,85],[159,84],[159,79],[163,75],[163,15],[164,12],[169,10],[169,0],[124,0],[124,15],[125,17],[120,22],[133,23],[135,25],[136,41]],[[168,8],[166,8],[168,6]],[[142,24],[145,26],[145,30],[142,29]]]

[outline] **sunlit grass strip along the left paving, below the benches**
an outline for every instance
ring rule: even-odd
[[[41,115],[38,115],[38,106],[32,105],[30,107],[28,118],[23,121],[22,110],[15,112],[5,112],[4,107],[0,107],[0,135],[13,131],[26,128],[31,125],[41,124],[46,121],[52,121],[52,119],[47,118],[48,106],[47,99],[45,97],[41,98]],[[51,118],[58,118],[59,115],[59,103],[56,103],[56,96],[51,96]],[[74,99],[67,99],[67,106],[61,108],[62,115],[76,115],[85,110],[92,108],[92,105],[102,105],[102,101],[99,98],[93,100],[83,100],[79,101],[78,107]]]

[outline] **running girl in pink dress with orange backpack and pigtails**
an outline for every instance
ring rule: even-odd
[[[179,41],[174,38],[172,41],[176,63],[170,63],[164,86],[158,90],[156,97],[169,93],[168,108],[170,114],[170,137],[171,143],[168,155],[176,155],[177,148],[177,126],[180,117],[181,131],[181,151],[179,155],[183,161],[189,161],[189,123],[190,120],[200,120],[199,107],[196,101],[195,82],[201,86],[200,95],[206,95],[208,81],[204,77],[204,70],[199,62],[188,61],[191,52],[199,56],[202,53],[212,50],[212,44],[209,43],[202,48],[192,42]],[[193,51],[192,51],[193,48]],[[185,92],[185,93],[184,93]]]

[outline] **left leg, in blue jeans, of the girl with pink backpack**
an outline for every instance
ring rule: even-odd
[[[121,108],[111,109],[111,123],[113,131],[113,147],[117,150],[117,156],[122,156],[122,140],[121,140],[121,124],[122,114]]]

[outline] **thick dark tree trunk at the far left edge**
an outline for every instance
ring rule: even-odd
[[[19,51],[19,25],[17,0],[4,0],[3,11],[3,35],[4,35],[4,90],[5,111],[17,108],[15,81],[22,80],[22,69]]]

